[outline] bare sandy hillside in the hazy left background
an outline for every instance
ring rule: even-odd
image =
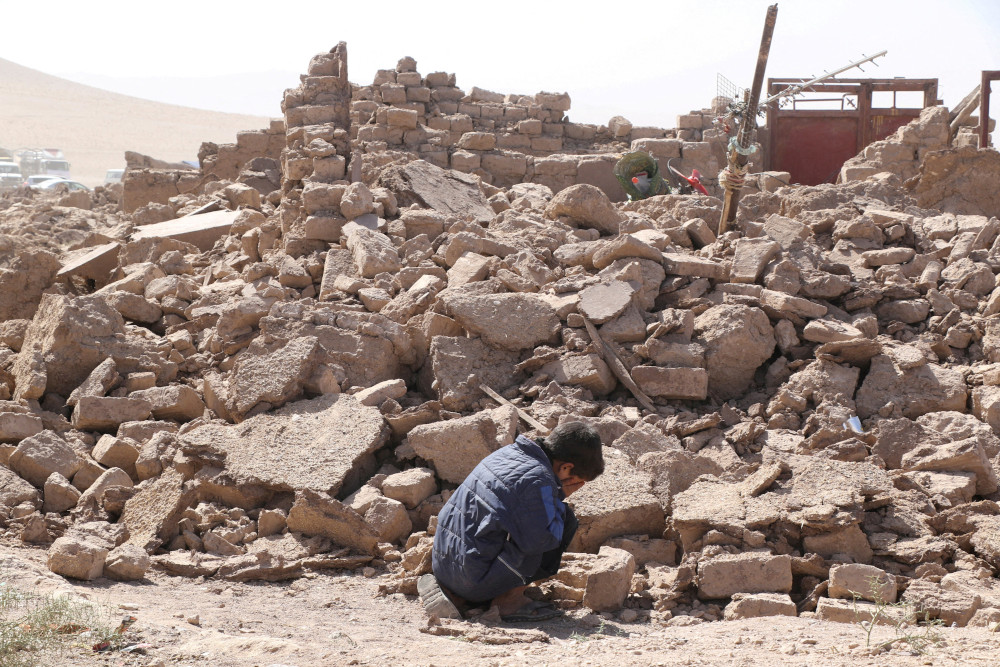
[[[203,111],[142,100],[60,79],[0,59],[0,146],[61,148],[72,177],[87,185],[124,167],[126,150],[194,160],[203,141],[232,142],[266,127],[262,116]]]

